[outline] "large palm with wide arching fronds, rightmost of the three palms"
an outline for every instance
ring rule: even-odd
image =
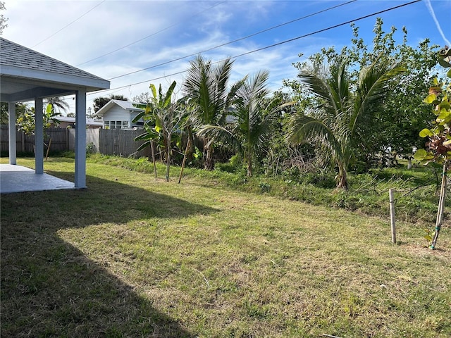
[[[404,71],[400,63],[381,57],[360,70],[357,84],[353,86],[346,68],[347,62],[342,60],[330,67],[328,75],[309,70],[299,73],[301,82],[321,104],[314,114],[293,115],[287,133],[288,141],[293,144],[311,141],[326,146],[338,167],[337,187],[342,189],[348,189],[352,146],[362,141],[359,128],[370,127],[363,125],[363,121],[371,120],[383,108],[390,80]]]

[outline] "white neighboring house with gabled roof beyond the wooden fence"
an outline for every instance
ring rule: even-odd
[[[132,123],[132,120],[144,111],[136,108],[130,101],[111,100],[97,111],[97,116],[104,120],[106,129],[132,129],[142,128],[142,120]]]

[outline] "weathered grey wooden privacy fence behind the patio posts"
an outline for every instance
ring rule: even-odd
[[[51,138],[51,151],[75,151],[75,129],[73,128],[49,128],[45,130],[44,142],[49,143]],[[121,129],[87,129],[86,144],[94,152],[104,155],[118,155],[123,157],[149,157],[150,149],[136,151],[141,142],[136,142],[135,137],[142,134],[142,130]],[[1,151],[8,152],[8,126],[1,125]],[[25,135],[24,132],[16,132],[16,149],[18,153],[33,153],[35,144],[34,135]],[[47,147],[44,147],[47,149]]]

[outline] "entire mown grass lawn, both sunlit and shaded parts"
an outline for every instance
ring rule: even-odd
[[[449,226],[431,251],[410,223],[393,245],[385,216],[205,177],[87,163],[87,185],[1,196],[2,338],[451,336]]]

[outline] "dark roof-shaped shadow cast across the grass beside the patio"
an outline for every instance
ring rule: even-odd
[[[1,337],[193,337],[56,232],[214,209],[87,179],[86,190],[1,196]]]

